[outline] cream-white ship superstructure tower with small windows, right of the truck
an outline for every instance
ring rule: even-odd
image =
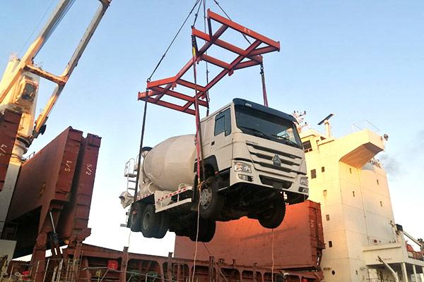
[[[396,281],[392,271],[400,281],[424,281],[423,255],[408,252],[394,221],[386,172],[374,159],[384,138],[372,130],[335,138],[325,124],[325,135],[301,133],[310,200],[322,208],[325,281]]]

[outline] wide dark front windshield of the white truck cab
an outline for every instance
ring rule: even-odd
[[[243,133],[302,148],[295,124],[285,118],[236,105],[235,120]]]

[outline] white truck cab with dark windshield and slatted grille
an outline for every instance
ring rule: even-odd
[[[282,209],[272,219],[261,214],[270,202],[284,207],[285,202],[307,199],[305,152],[293,116],[233,99],[204,118],[201,130],[206,180],[214,186],[201,190],[202,216],[218,220],[248,216],[276,228],[284,217]],[[213,195],[220,204],[214,203]],[[213,211],[208,211],[208,204],[215,206]]]

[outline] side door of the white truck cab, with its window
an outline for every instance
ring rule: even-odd
[[[221,111],[215,117],[213,137],[211,138],[211,154],[215,154],[218,170],[231,166],[232,135],[230,108]]]

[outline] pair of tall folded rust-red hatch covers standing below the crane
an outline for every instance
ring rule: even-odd
[[[47,249],[60,257],[59,245],[76,245],[90,235],[100,140],[69,127],[22,165],[3,233],[17,241],[14,257],[32,252],[33,260],[44,261]],[[39,266],[42,271],[44,264]]]

